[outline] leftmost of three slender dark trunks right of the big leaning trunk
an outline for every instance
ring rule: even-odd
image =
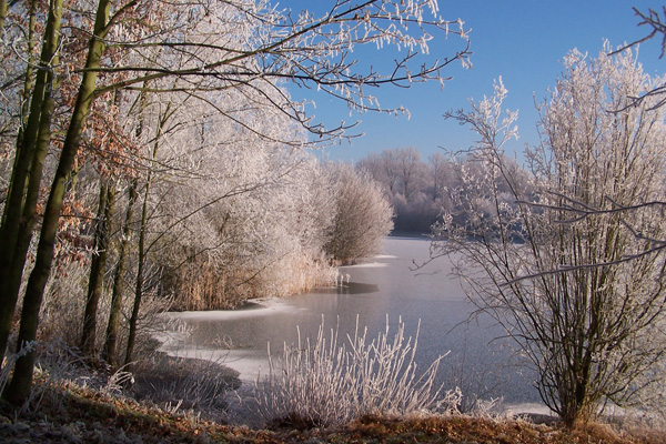
[[[100,186],[100,203],[98,209],[97,228],[94,231],[94,249],[88,280],[88,296],[83,313],[83,332],[81,350],[83,354],[94,356],[94,340],[97,336],[97,314],[100,299],[104,291],[104,272],[109,252],[109,233],[113,205],[115,203],[115,186],[105,179]]]

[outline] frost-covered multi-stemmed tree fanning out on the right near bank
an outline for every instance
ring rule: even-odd
[[[527,186],[504,158],[516,113],[502,113],[501,82],[471,111],[448,114],[478,134],[477,169],[461,174],[470,218],[455,224],[448,214],[434,228],[435,251],[461,254],[470,297],[517,342],[542,398],[568,425],[607,403],[642,403],[663,381],[666,261],[652,252],[666,222],[642,204],[666,194],[665,110],[627,104],[664,79],[630,52],[608,52],[565,57],[541,107],[541,144],[526,151]]]

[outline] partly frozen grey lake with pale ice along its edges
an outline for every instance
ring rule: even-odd
[[[339,325],[340,337],[353,335],[356,319],[367,326],[369,337],[376,337],[386,319],[390,332],[395,332],[401,317],[406,336],[415,335],[421,325],[420,369],[448,353],[438,375],[445,386],[460,386],[484,400],[502,396],[506,408],[543,412],[533,386],[535,375],[521,365],[508,340],[497,340],[502,329],[484,316],[467,322],[475,306],[451,278],[452,261],[440,258],[414,270],[414,261],[428,259],[428,246],[427,239],[386,238],[381,255],[340,269],[341,285],[253,301],[235,311],[170,313],[179,327],[162,337],[163,350],[223,362],[242,380],[254,381],[268,371],[269,343],[279,356],[284,343],[296,342],[299,330],[303,339],[315,337],[322,319],[326,331]]]

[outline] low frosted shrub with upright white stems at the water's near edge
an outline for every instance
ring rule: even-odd
[[[270,362],[270,373],[258,379],[256,398],[266,422],[292,426],[333,426],[369,414],[408,415],[423,411],[454,412],[460,391],[442,393],[435,385],[440,361],[418,374],[414,340],[405,339],[398,321],[393,339],[386,330],[371,342],[367,329],[339,341],[339,327],[324,333],[320,325],[314,342],[284,346],[282,360]]]

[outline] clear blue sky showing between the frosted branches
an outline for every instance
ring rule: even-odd
[[[301,9],[309,3],[321,7],[331,0],[284,0],[284,8]],[[638,18],[632,7],[647,12],[648,8],[662,9],[654,1],[445,1],[440,0],[440,13],[450,20],[458,17],[472,29],[471,57],[473,68],[462,69],[456,63],[444,74],[454,79],[440,84],[416,84],[412,89],[381,88],[373,91],[383,107],[404,105],[411,112],[406,117],[364,113],[350,117],[345,105],[317,97],[316,109],[312,110],[317,121],[329,124],[361,120],[355,132],[364,135],[351,144],[343,142],[324,150],[324,155],[333,160],[354,162],[370,152],[384,149],[414,147],[426,159],[441,150],[440,147],[456,150],[466,148],[474,141],[474,134],[453,121],[445,121],[442,114],[451,109],[466,108],[468,99],[482,99],[493,91],[493,81],[502,75],[508,90],[505,107],[519,110],[518,129],[521,139],[513,142],[512,149],[521,152],[525,143],[537,142],[535,122],[538,119],[534,99],[542,101],[547,88],[555,84],[562,72],[562,58],[577,48],[592,57],[602,50],[604,39],[616,47],[625,41],[644,37],[648,29],[638,28]],[[432,57],[451,56],[461,42],[455,37],[448,40],[434,40],[431,43]],[[666,58],[658,59],[660,40],[644,43],[639,61],[650,74],[662,74]],[[379,64],[393,60],[400,53],[381,50],[363,51],[363,62]],[[297,95],[307,92],[297,91]]]

